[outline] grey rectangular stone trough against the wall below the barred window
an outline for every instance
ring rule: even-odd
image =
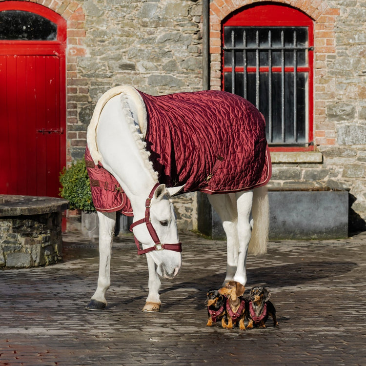
[[[313,186],[269,189],[269,240],[348,237],[348,191]],[[206,210],[205,226],[200,231],[213,239],[226,238],[213,208]]]

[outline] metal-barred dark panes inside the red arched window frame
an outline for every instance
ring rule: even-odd
[[[224,90],[264,115],[272,145],[308,144],[307,27],[224,28]]]

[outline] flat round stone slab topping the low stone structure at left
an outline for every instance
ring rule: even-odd
[[[62,212],[68,201],[54,197],[0,195],[0,217]]]

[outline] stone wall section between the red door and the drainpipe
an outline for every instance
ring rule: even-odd
[[[83,55],[68,84],[68,159],[81,159],[94,106],[130,84],[152,95],[202,90],[202,4],[196,0],[87,0]],[[80,52],[82,53],[82,52]],[[193,229],[196,194],[174,200],[181,229]]]

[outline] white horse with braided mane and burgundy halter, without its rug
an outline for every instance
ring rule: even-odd
[[[171,196],[179,193],[182,186],[167,188],[164,184],[159,184],[158,175],[149,162],[146,143],[143,142],[146,128],[146,110],[141,95],[131,86],[116,87],[105,93],[97,103],[88,127],[87,143],[94,163],[102,163],[120,183],[131,202],[134,213],[133,234],[138,246],[141,243],[146,251],[149,273],[149,292],[143,311],[159,311],[160,277],[175,277],[182,264],[176,216],[171,201]],[[208,197],[223,221],[227,236],[227,271],[224,282],[235,280],[245,285],[248,248],[254,254],[266,251],[266,189],[259,187]],[[101,310],[106,306],[105,293],[110,286],[110,258],[116,213],[98,212],[98,216],[98,287],[86,306],[88,310]]]

